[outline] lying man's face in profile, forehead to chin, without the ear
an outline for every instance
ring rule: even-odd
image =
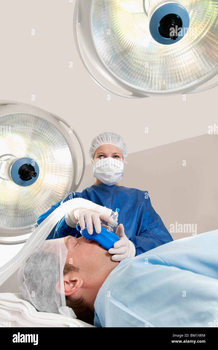
[[[68,248],[66,263],[70,262],[73,266],[79,267],[80,273],[85,275],[86,279],[92,278],[93,273],[101,276],[110,273],[119,264],[113,261],[112,254],[96,241],[72,236],[63,239]]]

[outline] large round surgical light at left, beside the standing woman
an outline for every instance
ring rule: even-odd
[[[83,158],[78,182],[72,135]],[[65,120],[35,106],[0,101],[0,244],[24,243],[36,219],[77,190],[84,170],[82,143]]]

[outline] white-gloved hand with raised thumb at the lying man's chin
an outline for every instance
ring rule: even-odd
[[[134,258],[135,256],[135,246],[126,237],[124,233],[124,225],[120,224],[117,228],[116,233],[119,235],[119,241],[114,243],[114,247],[108,250],[108,253],[114,254],[111,259],[114,261],[121,261],[125,258]]]

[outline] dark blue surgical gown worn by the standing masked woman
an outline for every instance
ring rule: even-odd
[[[118,224],[124,225],[125,235],[135,245],[135,255],[173,240],[160,216],[153,209],[147,191],[117,185],[107,186],[104,183],[69,194],[38,217],[37,226],[60,204],[77,197],[85,198],[113,211],[119,208]],[[76,228],[66,224],[64,216],[52,229],[47,239],[68,235],[81,237]]]

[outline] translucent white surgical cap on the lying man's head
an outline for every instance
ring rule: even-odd
[[[64,239],[41,241],[34,247],[18,272],[20,293],[37,311],[76,318],[66,306],[63,269],[68,249]]]

